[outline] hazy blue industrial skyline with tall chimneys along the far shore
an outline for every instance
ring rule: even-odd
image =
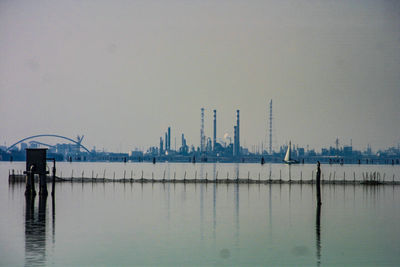
[[[272,100],[268,103],[267,131],[268,144],[261,147],[253,146],[251,150],[240,143],[240,110],[236,110],[236,122],[233,125],[233,140],[230,136],[218,138],[217,135],[217,110],[213,113],[212,137],[205,135],[204,115],[206,110],[200,109],[200,142],[199,146],[189,145],[184,133],[181,137],[181,146],[172,148],[171,139],[173,129],[169,126],[160,136],[159,143],[147,150],[132,150],[129,153],[115,153],[98,151],[94,147],[88,149],[82,144],[84,136],[76,139],[56,134],[40,134],[21,139],[11,146],[0,146],[0,161],[24,161],[27,148],[47,148],[48,155],[57,161],[100,161],[100,162],[236,162],[236,163],[282,163],[290,151],[296,163],[315,163],[320,161],[331,164],[399,164],[400,146],[390,147],[386,150],[372,152],[370,146],[364,151],[354,150],[352,144],[340,145],[336,138],[333,146],[322,148],[320,152],[298,145],[284,144],[279,149],[273,149],[273,121]],[[178,136],[178,134],[176,135]],[[55,145],[38,141],[42,137],[52,137],[68,141]],[[267,143],[267,142],[266,142]],[[290,147],[289,147],[290,146]]]

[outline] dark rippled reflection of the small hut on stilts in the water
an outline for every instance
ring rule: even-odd
[[[47,197],[39,197],[37,218],[35,218],[35,196],[27,195],[25,200],[25,266],[42,266],[46,263]]]

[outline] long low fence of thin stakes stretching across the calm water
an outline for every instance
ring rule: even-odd
[[[282,176],[282,170],[279,171],[278,175],[272,175],[271,172],[267,175],[261,175],[261,172],[251,173],[247,172],[247,176],[240,176],[239,172],[230,173],[229,171],[220,174],[218,171],[211,173],[208,172],[199,174],[196,171],[187,175],[187,171],[184,174],[177,176],[176,171],[168,172],[164,170],[163,174],[155,175],[154,172],[145,175],[144,170],[134,172],[133,170],[123,171],[123,175],[116,175],[116,172],[107,172],[106,169],[102,173],[95,172],[92,170],[88,175],[82,171],[77,175],[77,172],[71,170],[70,175],[62,175],[60,173],[56,175],[56,182],[93,182],[93,183],[110,183],[110,182],[122,182],[122,183],[243,183],[243,184],[314,184],[316,182],[316,172],[312,170],[310,173],[300,172],[299,176],[288,177]],[[47,176],[50,181],[52,176]],[[37,177],[36,177],[37,179]],[[22,170],[9,170],[9,182],[25,182],[26,175]],[[337,174],[336,171],[322,172],[321,184],[338,184],[338,185],[400,185],[400,181],[396,180],[396,175],[392,174],[391,177],[386,173],[379,171],[362,172],[356,175],[356,172],[351,174],[343,172],[341,175]]]

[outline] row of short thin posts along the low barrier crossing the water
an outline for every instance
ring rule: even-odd
[[[134,179],[136,180],[133,170],[130,171],[130,176],[128,176],[127,171],[124,170],[123,178],[116,178],[115,171],[113,172],[112,179],[107,177],[106,173],[107,173],[106,169],[104,169],[102,177],[99,177],[98,173],[96,173],[96,175],[95,175],[94,170],[92,170],[91,178],[90,178],[90,177],[85,177],[85,172],[82,171],[82,173],[79,176],[75,176],[74,177],[74,170],[71,170],[71,175],[70,176],[63,177],[62,176],[62,172],[61,172],[60,176],[57,177],[57,178],[61,178],[62,180],[70,180],[70,181],[79,180],[79,179],[81,179],[81,180],[85,179],[86,181],[90,180],[90,179],[92,181],[95,181],[95,180],[96,181],[99,181],[99,180],[100,181],[101,180],[105,181],[106,179],[107,179],[107,181],[109,181],[109,180],[116,181],[116,180],[121,180],[121,179],[123,181],[126,181],[127,179],[129,179],[131,181],[133,181]],[[347,176],[347,178],[351,177],[350,179],[347,179],[347,180],[346,180],[346,172],[343,172],[343,176],[341,176],[341,177],[336,175],[336,171],[329,172],[329,175],[327,175],[326,177],[325,177],[324,173],[321,173],[320,175],[321,175],[322,183],[336,183],[336,182],[342,182],[342,183],[351,183],[351,182],[353,182],[353,183],[357,183],[357,182],[358,183],[360,183],[360,182],[385,183],[385,182],[388,182],[390,180],[392,181],[392,183],[395,182],[395,174],[393,174],[392,177],[387,177],[386,173],[381,174],[381,172],[378,172],[378,171],[362,172],[362,179],[358,179],[358,180],[356,179],[356,173],[355,172],[353,172],[352,177],[351,176]],[[13,177],[15,179],[15,176],[23,176],[23,171],[15,172],[14,170],[12,170],[11,173],[9,172],[9,176],[10,176],[10,180],[12,180]],[[210,181],[210,182],[217,181],[218,182],[218,181],[227,181],[227,180],[233,180],[234,181],[234,180],[239,180],[239,179],[241,179],[243,181],[246,180],[246,178],[244,178],[244,177],[243,178],[239,177],[239,173],[236,173],[236,175],[233,176],[233,177],[230,176],[229,172],[226,173],[226,177],[218,177],[218,176],[219,176],[219,172],[217,171],[215,173],[215,176],[213,177],[213,179],[209,179],[208,172],[205,173],[205,178],[204,178],[204,176],[203,177],[198,177],[197,171],[195,171],[194,181],[199,180],[199,182],[200,181]],[[52,177],[55,177],[55,175],[53,174]],[[140,172],[139,177],[138,177],[139,180],[145,180],[145,179],[146,180],[151,179],[151,180],[154,180],[154,181],[159,181],[160,180],[160,179],[155,178],[154,172],[151,173],[151,178],[145,177],[143,170]],[[173,179],[171,179],[171,177],[168,177],[168,179],[166,179],[166,170],[164,170],[162,181],[165,181],[165,182],[171,181],[171,180],[172,181],[186,181],[186,180],[187,181],[190,181],[190,180],[193,181],[193,178],[189,179],[187,177],[187,172],[186,171],[184,172],[183,179],[176,179],[176,177],[177,177],[176,176],[176,172],[174,171]],[[261,180],[261,173],[260,172],[258,173],[258,180],[254,180],[254,179],[252,179],[250,177],[251,177],[250,171],[248,171],[247,172],[247,180],[248,181],[253,181],[253,182],[254,181],[258,181],[258,182],[268,182],[268,181],[271,182],[271,181],[274,181],[274,182],[300,182],[301,183],[302,181],[305,181],[305,180],[303,180],[303,172],[302,171],[300,172],[299,179],[295,179],[295,180],[292,179],[291,174],[289,173],[288,180],[284,181],[282,179],[282,170],[279,170],[279,180],[272,177],[272,172],[269,172],[269,176],[266,177],[267,180],[265,180],[265,179]],[[390,178],[392,178],[392,179],[390,179]],[[311,171],[311,180],[308,180],[308,181],[311,181],[311,182],[314,181],[314,170]]]

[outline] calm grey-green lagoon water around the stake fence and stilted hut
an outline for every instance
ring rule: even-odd
[[[63,183],[25,200],[0,163],[0,265],[400,265],[400,187]],[[60,163],[64,177],[310,179],[313,165]],[[74,173],[72,173],[72,170]],[[325,178],[399,166],[326,166]],[[164,174],[165,172],[165,174]],[[290,172],[290,174],[289,174]],[[153,174],[152,174],[153,173]],[[217,174],[218,173],[218,174]],[[343,173],[346,173],[344,175]],[[345,176],[345,177],[344,177]],[[50,188],[49,188],[50,189]]]

